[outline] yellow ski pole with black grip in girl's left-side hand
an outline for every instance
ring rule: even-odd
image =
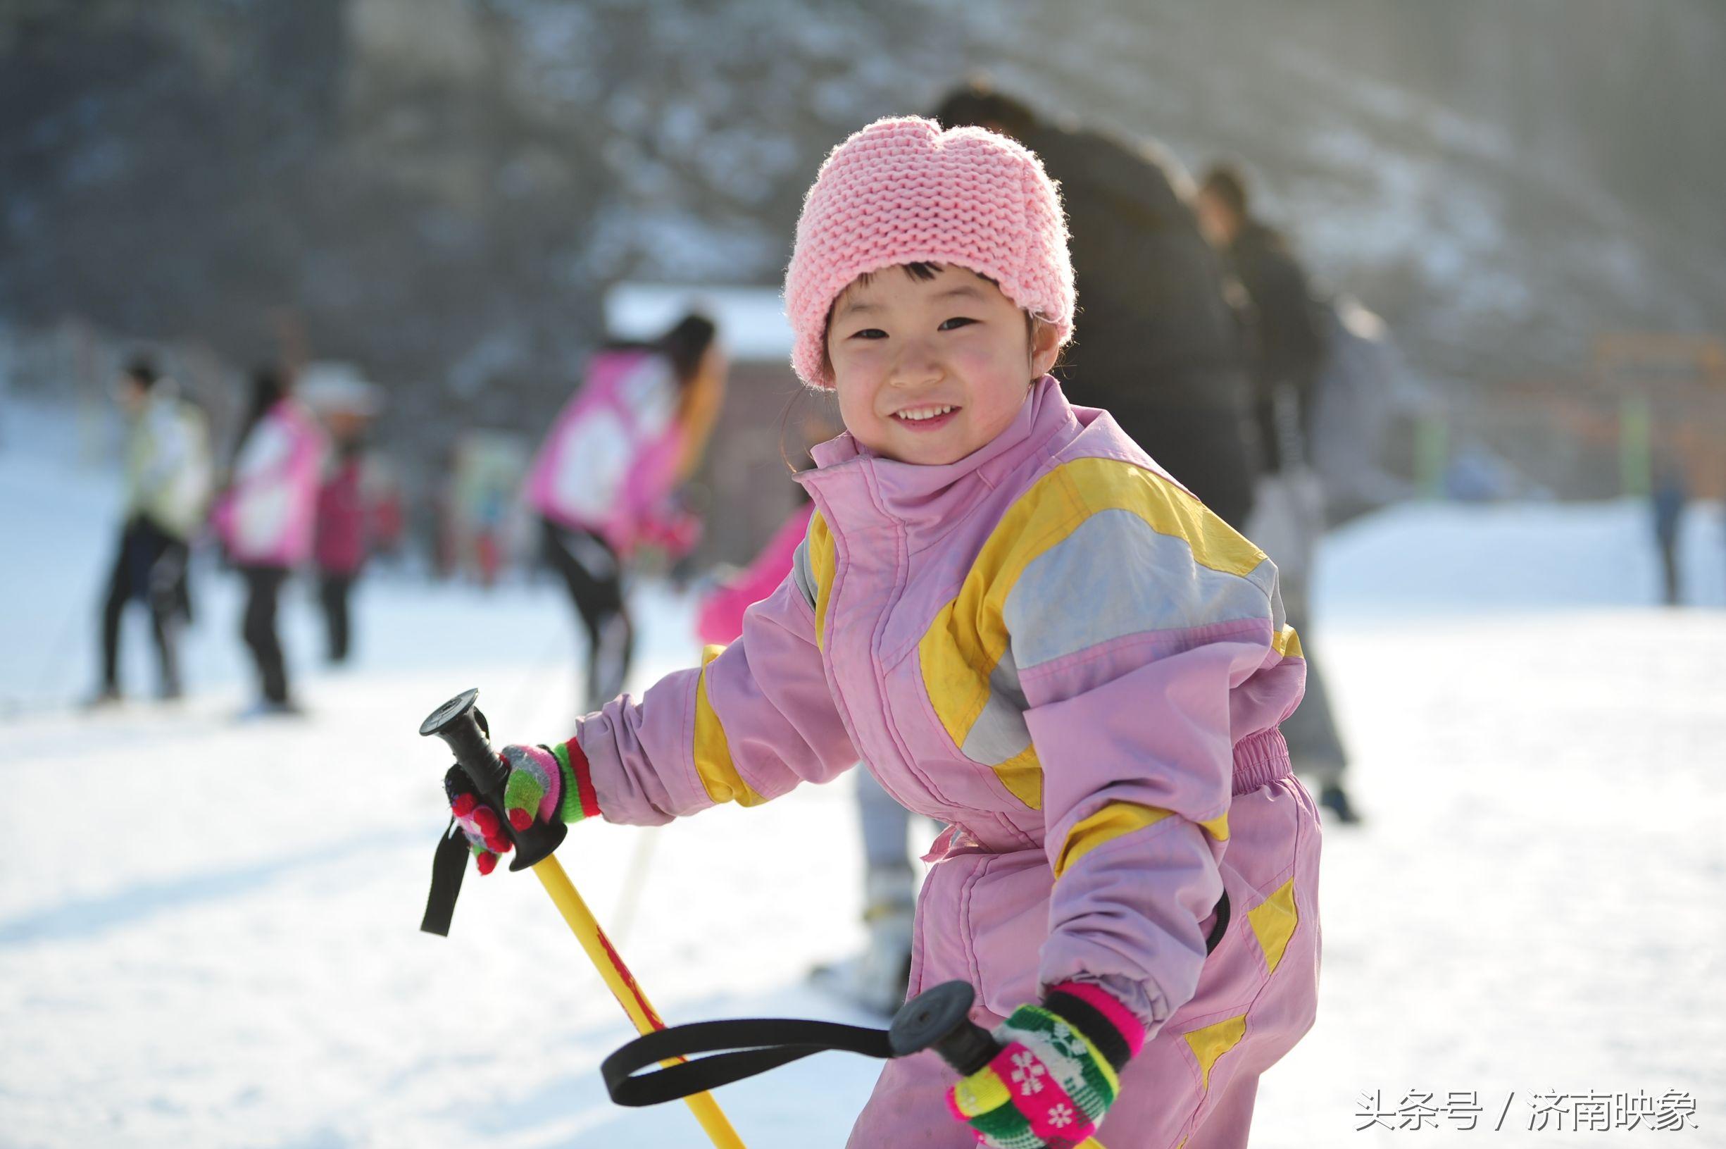
[[[449,743],[450,750],[456,752],[456,762],[468,772],[473,784],[480,788],[480,797],[490,802],[499,810],[499,817],[502,817],[507,772],[497,760],[497,755],[492,753],[490,738],[487,738],[485,731],[480,729],[478,719],[475,719],[473,703],[478,696],[480,691],[469,689],[450,698],[421,722],[419,733],[426,736],[437,734]],[[502,821],[516,841],[516,859],[509,864],[509,869],[533,869],[540,885],[545,886],[545,893],[557,905],[557,912],[568,923],[570,931],[582,943],[589,961],[594,962],[594,969],[604,978],[606,988],[611,990],[611,995],[623,1006],[623,1013],[635,1023],[635,1030],[640,1033],[663,1030],[665,1021],[659,1019],[658,1011],[647,1002],[647,995],[637,985],[635,974],[623,964],[606,931],[599,928],[592,911],[587,909],[587,902],[576,893],[570,876],[563,873],[563,864],[552,857],[552,850],[563,841],[568,826],[556,821],[535,822],[528,829],[516,831],[509,828],[507,819]],[[677,1061],[682,1061],[682,1057],[666,1064],[677,1064]],[[690,1094],[683,1102],[718,1149],[744,1149],[742,1139],[732,1130],[732,1123],[725,1120],[725,1113],[713,1101],[713,1094]]]

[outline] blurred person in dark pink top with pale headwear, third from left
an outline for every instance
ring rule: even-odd
[[[366,441],[378,415],[378,396],[345,365],[307,366],[299,394],[330,435],[331,451],[318,486],[312,558],[324,613],[324,653],[331,665],[342,665],[352,646],[349,598],[373,546]]]

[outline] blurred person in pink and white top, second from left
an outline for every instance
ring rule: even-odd
[[[223,549],[245,579],[240,636],[262,691],[254,714],[299,712],[276,634],[276,605],[281,584],[312,551],[323,454],[323,432],[293,399],[290,380],[274,368],[255,371],[233,473],[214,511]]]

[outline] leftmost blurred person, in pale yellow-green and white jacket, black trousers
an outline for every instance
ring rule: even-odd
[[[119,631],[131,601],[150,608],[157,696],[181,696],[178,629],[192,617],[186,560],[211,492],[209,428],[174,382],[140,358],[121,373],[114,394],[128,423],[126,513],[102,606],[102,686],[95,705],[121,698]]]

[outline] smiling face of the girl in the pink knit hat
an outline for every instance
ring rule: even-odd
[[[1055,366],[1055,328],[1025,327],[999,287],[965,268],[858,278],[827,325],[846,430],[891,460],[956,463],[1006,430]]]

